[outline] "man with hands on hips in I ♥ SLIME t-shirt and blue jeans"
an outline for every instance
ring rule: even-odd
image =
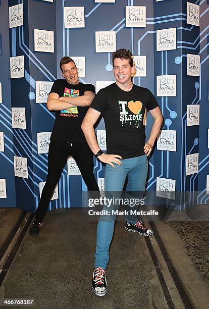
[[[147,156],[152,150],[163,122],[158,102],[153,94],[146,88],[132,84],[131,75],[134,72],[134,66],[130,50],[123,48],[113,53],[113,67],[116,83],[99,90],[81,126],[94,155],[107,164],[105,191],[110,196],[123,190],[126,177],[128,177],[130,191],[145,190]],[[153,117],[147,142],[145,142],[143,124],[146,110]],[[93,128],[101,113],[106,126],[107,154],[99,148]],[[108,208],[103,209],[108,211]],[[114,215],[100,216],[97,226],[92,288],[98,296],[105,296],[107,293],[106,268],[109,263],[109,247],[115,217]],[[126,221],[125,228],[128,231],[143,236],[153,234],[143,226],[141,221],[137,221],[136,216],[129,215]]]

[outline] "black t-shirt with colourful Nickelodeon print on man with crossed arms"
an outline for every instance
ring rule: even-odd
[[[69,84],[65,79],[57,79],[51,91],[61,96],[79,96],[84,95],[85,91],[92,91],[95,94],[95,87],[91,84]],[[63,142],[85,143],[85,137],[81,130],[83,118],[88,111],[88,107],[71,107],[66,110],[56,112],[56,120],[51,140]]]

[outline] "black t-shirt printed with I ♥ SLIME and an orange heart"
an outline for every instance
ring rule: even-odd
[[[105,121],[107,153],[123,159],[144,155],[145,109],[158,107],[151,91],[134,84],[124,91],[114,83],[100,89],[90,107],[102,113]]]

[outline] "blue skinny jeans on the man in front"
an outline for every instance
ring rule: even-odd
[[[126,177],[128,176],[130,191],[144,191],[147,177],[147,156],[121,160],[122,164],[106,165],[105,170],[105,191],[110,195],[120,197]],[[114,192],[113,194],[111,192]],[[106,194],[106,196],[107,196]],[[114,206],[117,209],[118,205]],[[107,209],[107,208],[103,208]],[[95,268],[106,269],[110,259],[109,248],[113,237],[116,216],[100,216],[97,225],[97,240],[95,252]],[[137,217],[127,216],[127,222],[136,222]]]

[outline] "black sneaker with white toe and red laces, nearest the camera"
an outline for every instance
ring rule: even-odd
[[[97,296],[105,296],[108,290],[106,271],[103,268],[97,267],[92,274],[92,289]]]

